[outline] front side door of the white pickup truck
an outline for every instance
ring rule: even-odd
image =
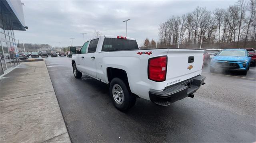
[[[78,71],[80,72],[84,72],[85,73],[85,65],[84,65],[84,55],[86,55],[86,51],[87,51],[87,47],[88,47],[88,43],[89,41],[87,41],[86,43],[84,43],[84,45],[82,46],[82,48],[80,49],[80,54],[76,54],[76,67],[78,69]]]

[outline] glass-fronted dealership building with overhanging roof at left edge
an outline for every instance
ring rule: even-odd
[[[14,31],[26,31],[23,3],[0,0],[0,76],[20,64]]]

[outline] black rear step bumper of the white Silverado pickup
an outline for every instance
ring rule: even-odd
[[[187,96],[194,97],[193,93],[204,84],[205,78],[205,76],[200,75],[175,84],[161,92],[149,91],[150,100],[158,105],[168,106]]]

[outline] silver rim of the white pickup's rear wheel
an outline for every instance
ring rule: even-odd
[[[118,84],[115,84],[112,88],[112,95],[117,104],[122,104],[124,101],[124,91],[122,87]]]

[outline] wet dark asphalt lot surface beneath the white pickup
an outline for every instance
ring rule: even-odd
[[[73,143],[256,141],[255,67],[247,76],[204,67],[206,84],[194,98],[167,107],[139,98],[123,113],[112,105],[106,84],[74,78],[71,58],[45,61]]]

